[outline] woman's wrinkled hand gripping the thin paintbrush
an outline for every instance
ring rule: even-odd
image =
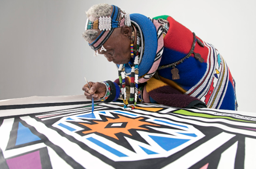
[[[107,88],[106,85],[104,83],[100,83],[100,82],[89,82],[89,85],[91,87],[91,89],[89,88],[88,84],[84,85],[82,90],[85,91],[85,96],[87,99],[91,99],[92,100],[92,96],[93,99],[100,99],[103,98],[107,92]]]

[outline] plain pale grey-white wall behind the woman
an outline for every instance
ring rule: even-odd
[[[97,3],[170,15],[213,44],[236,80],[238,110],[256,112],[254,0],[0,0],[0,99],[83,94],[84,76],[118,78],[81,37],[85,11]]]

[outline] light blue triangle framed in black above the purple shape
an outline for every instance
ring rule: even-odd
[[[25,144],[32,141],[38,141],[41,140],[38,136],[33,134],[29,128],[23,126],[19,122],[19,128],[17,131],[17,139],[16,139],[16,146],[20,144]]]

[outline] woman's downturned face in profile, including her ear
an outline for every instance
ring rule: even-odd
[[[103,44],[106,49],[98,53],[104,55],[108,61],[115,64],[129,63],[131,59],[131,30],[129,27],[115,28],[109,39]],[[89,43],[92,43],[89,41]]]

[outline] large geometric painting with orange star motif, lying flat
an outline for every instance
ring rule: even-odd
[[[95,103],[92,113],[88,102],[76,108],[1,117],[0,168],[256,166],[253,113],[146,103],[131,111],[122,107],[120,102]]]

